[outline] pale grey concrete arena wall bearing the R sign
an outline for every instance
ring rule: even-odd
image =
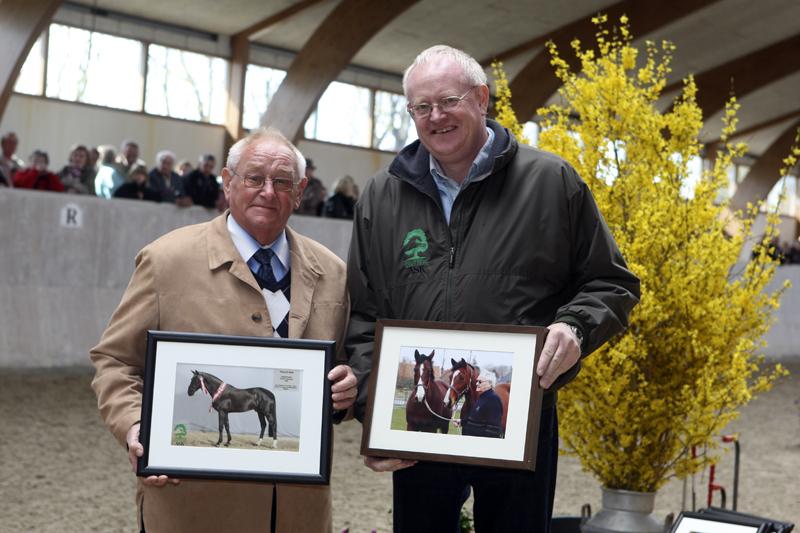
[[[0,368],[88,365],[139,249],[215,215],[0,187]],[[349,221],[294,216],[290,225],[346,257]]]

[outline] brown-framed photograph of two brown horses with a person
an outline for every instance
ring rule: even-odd
[[[534,470],[547,329],[379,320],[361,453]]]

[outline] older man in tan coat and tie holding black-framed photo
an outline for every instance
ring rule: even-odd
[[[231,148],[222,172],[230,211],[173,231],[136,257],[128,289],[90,354],[100,413],[132,465],[144,452],[138,437],[148,329],[341,341],[344,263],[286,227],[306,185],[304,163],[277,131],[251,134]],[[279,292],[289,296],[282,305]],[[328,378],[333,407],[347,409],[356,393],[352,371],[339,365]],[[327,486],[165,476],[140,479],[137,491],[148,533],[316,533],[331,528],[330,500]]]

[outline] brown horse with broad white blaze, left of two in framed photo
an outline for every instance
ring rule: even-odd
[[[406,402],[406,430],[447,433],[453,409],[445,406],[447,383],[436,379],[433,373],[433,356],[414,350],[414,389]]]

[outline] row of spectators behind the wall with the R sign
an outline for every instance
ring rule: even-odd
[[[227,208],[222,180],[214,173],[217,161],[211,154],[201,155],[194,167],[189,161],[176,162],[173,152],[162,150],[148,170],[135,141],[124,141],[119,151],[111,145],[89,148],[78,144],[70,149],[67,163],[55,173],[50,170],[47,152],[34,150],[26,165],[17,156],[18,145],[14,132],[0,138],[0,187],[146,200],[179,207],[199,205],[219,211]],[[355,180],[344,176],[333,184],[333,193],[328,195],[315,175],[316,168],[311,159],[306,159],[308,186],[297,213],[352,220],[358,199]]]

